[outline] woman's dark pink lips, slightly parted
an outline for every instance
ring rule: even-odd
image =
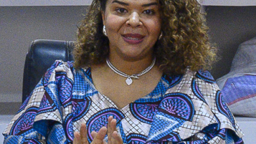
[[[127,33],[122,35],[123,40],[131,45],[136,45],[142,43],[144,40],[144,35],[140,35],[139,33]]]

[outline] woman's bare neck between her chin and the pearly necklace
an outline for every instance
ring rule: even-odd
[[[138,74],[148,66],[154,60],[153,56],[148,56],[146,58],[142,58],[140,60],[127,60],[119,57],[112,57],[109,58],[110,62],[114,67],[116,67],[119,71],[126,73],[127,75]]]

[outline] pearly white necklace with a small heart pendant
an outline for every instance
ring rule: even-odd
[[[139,79],[140,76],[144,75],[145,73],[148,73],[148,71],[150,71],[154,67],[154,65],[156,63],[156,58],[154,58],[154,60],[151,63],[151,65],[146,67],[146,69],[144,69],[140,73],[133,74],[133,75],[127,75],[126,73],[123,73],[122,71],[119,71],[116,67],[114,67],[114,65],[112,65],[112,63],[110,63],[110,60],[108,60],[108,58],[106,59],[106,63],[108,64],[108,67],[110,67],[110,69],[112,69],[112,71],[114,71],[118,75],[121,75],[122,77],[127,77],[125,82],[129,86],[129,85],[131,85],[133,83],[133,79],[132,78]]]

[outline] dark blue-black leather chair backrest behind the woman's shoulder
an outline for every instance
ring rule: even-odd
[[[32,42],[24,65],[22,103],[55,60],[64,62],[73,60],[73,48],[73,41],[39,39]]]

